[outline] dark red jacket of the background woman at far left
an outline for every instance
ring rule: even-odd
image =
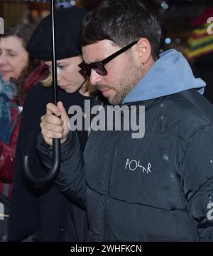
[[[37,68],[35,68],[24,81],[24,91],[28,92],[36,83],[45,79],[48,76],[48,73],[49,71],[45,64],[40,63],[40,65]],[[17,98],[15,99],[15,102],[17,103]],[[22,107],[23,102],[24,101],[22,101],[19,106]],[[13,183],[13,165],[16,153],[16,142],[21,125],[21,113],[18,113],[18,110],[16,108],[11,108],[11,125],[15,121],[17,115],[18,120],[11,135],[9,145],[6,145],[0,140],[0,181],[2,182],[0,183],[0,193],[4,193],[5,183],[10,183],[9,198],[11,197],[11,183]]]

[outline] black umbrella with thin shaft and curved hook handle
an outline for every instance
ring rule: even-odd
[[[50,2],[50,13],[52,20],[52,49],[53,49],[53,59],[52,59],[52,74],[53,74],[53,103],[58,102],[57,93],[57,63],[56,63],[56,53],[55,53],[55,4],[62,4],[63,2],[71,2],[70,0],[13,0],[13,1],[28,1],[28,2]],[[45,184],[52,181],[58,174],[60,168],[60,140],[53,139],[53,165],[45,176],[38,177],[31,172],[30,168],[30,156],[23,156],[23,170],[26,174],[26,178],[31,183],[34,184]]]

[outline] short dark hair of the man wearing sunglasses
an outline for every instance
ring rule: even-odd
[[[161,28],[155,11],[143,0],[104,0],[84,17],[80,45],[104,39],[119,46],[146,38],[153,60],[158,59]]]

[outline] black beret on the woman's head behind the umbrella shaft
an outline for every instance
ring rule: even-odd
[[[81,54],[78,44],[82,20],[87,14],[84,9],[69,8],[55,11],[56,58],[70,58]],[[35,29],[27,50],[34,58],[52,60],[52,29],[50,15],[45,17]]]

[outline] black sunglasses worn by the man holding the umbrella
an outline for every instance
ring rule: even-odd
[[[131,48],[133,45],[138,43],[138,41],[134,41],[133,43],[130,43],[128,46],[125,46],[124,48],[121,48],[119,51],[116,51],[116,53],[111,54],[109,57],[104,58],[103,61],[94,62],[94,63],[80,63],[78,66],[82,69],[82,71],[87,75],[91,75],[91,70],[93,69],[96,73],[98,73],[101,76],[107,76],[107,69],[104,68],[104,65],[106,65],[109,61],[119,56],[121,53],[124,53],[124,51],[127,51],[129,48]]]

